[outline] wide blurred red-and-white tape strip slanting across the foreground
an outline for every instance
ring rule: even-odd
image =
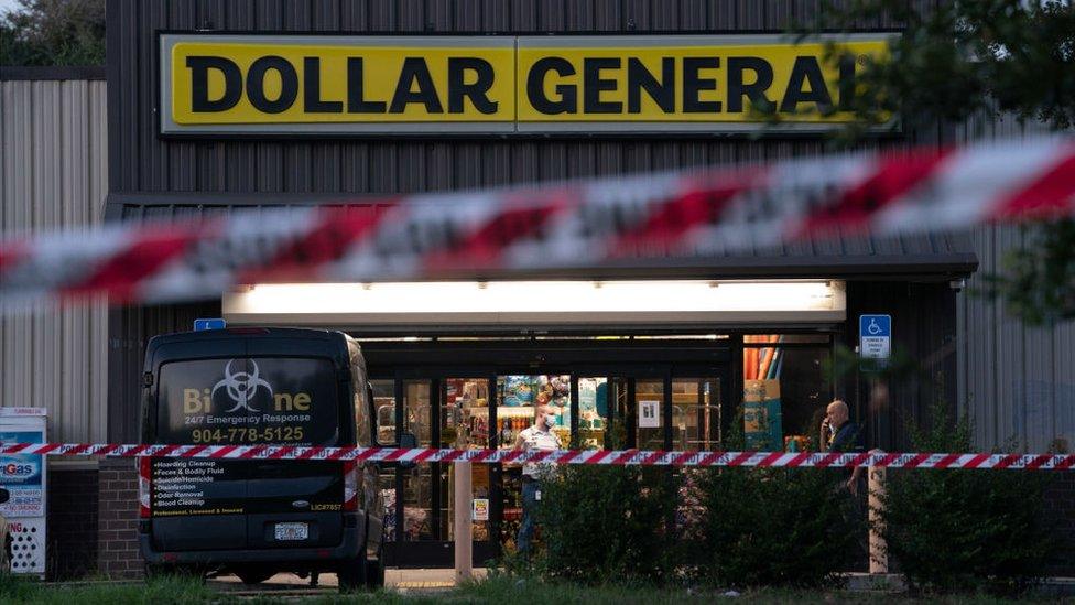
[[[1075,139],[1031,138],[121,224],[0,241],[0,312],[237,284],[489,279],[1075,214]],[[701,264],[699,264],[701,263]]]

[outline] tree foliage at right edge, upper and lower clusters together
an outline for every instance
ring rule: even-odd
[[[795,31],[854,31],[902,24],[883,62],[856,75],[850,110],[859,118],[837,142],[853,143],[893,114],[905,123],[963,122],[1009,115],[1053,130],[1075,126],[1075,8],[1067,0],[955,0],[923,8],[906,0],[824,4]],[[840,56],[835,45],[832,61]],[[861,63],[861,62],[860,62]],[[1075,318],[1075,223],[1033,225],[1023,247],[987,277],[987,294],[1030,324]]]

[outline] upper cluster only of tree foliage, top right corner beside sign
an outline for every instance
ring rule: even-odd
[[[797,28],[808,35],[854,31],[864,22],[904,25],[889,42],[888,60],[857,71],[851,110],[862,121],[883,122],[899,112],[908,119],[958,122],[1001,111],[1054,129],[1075,125],[1075,10],[1069,2],[958,0],[927,10],[916,4],[826,3],[812,23]]]

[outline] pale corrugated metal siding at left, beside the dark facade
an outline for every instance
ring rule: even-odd
[[[0,227],[98,223],[107,193],[106,86],[0,82]],[[94,304],[0,318],[0,404],[48,410],[51,439],[97,441],[107,426],[108,322]]]

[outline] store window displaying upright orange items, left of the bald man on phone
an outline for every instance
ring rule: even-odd
[[[825,377],[832,338],[825,334],[748,334],[742,350],[746,446],[817,451],[832,386]]]

